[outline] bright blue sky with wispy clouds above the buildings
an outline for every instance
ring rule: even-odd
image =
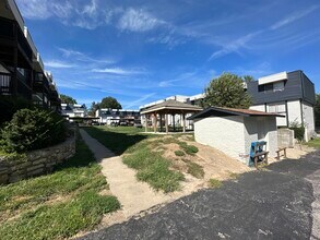
[[[16,0],[59,92],[123,108],[195,95],[222,72],[303,70],[320,92],[318,0]]]

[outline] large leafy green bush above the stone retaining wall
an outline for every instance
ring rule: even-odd
[[[21,109],[1,131],[1,148],[7,153],[39,149],[66,140],[62,117],[43,109]]]

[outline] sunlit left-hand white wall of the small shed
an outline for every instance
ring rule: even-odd
[[[242,117],[210,117],[194,120],[194,137],[201,144],[215,147],[230,157],[247,163],[239,156],[246,153]]]

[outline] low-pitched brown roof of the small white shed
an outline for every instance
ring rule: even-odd
[[[245,117],[285,117],[274,112],[257,111],[251,109],[210,107],[189,117],[189,120],[205,117],[245,116]]]

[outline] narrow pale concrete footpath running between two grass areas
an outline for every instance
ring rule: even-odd
[[[81,129],[80,134],[103,167],[102,172],[107,179],[111,193],[120,201],[122,213],[127,219],[173,199],[164,193],[153,191],[147,183],[138,181],[135,171],[128,168],[121,157],[115,156],[112,152],[91,137],[84,130]]]

